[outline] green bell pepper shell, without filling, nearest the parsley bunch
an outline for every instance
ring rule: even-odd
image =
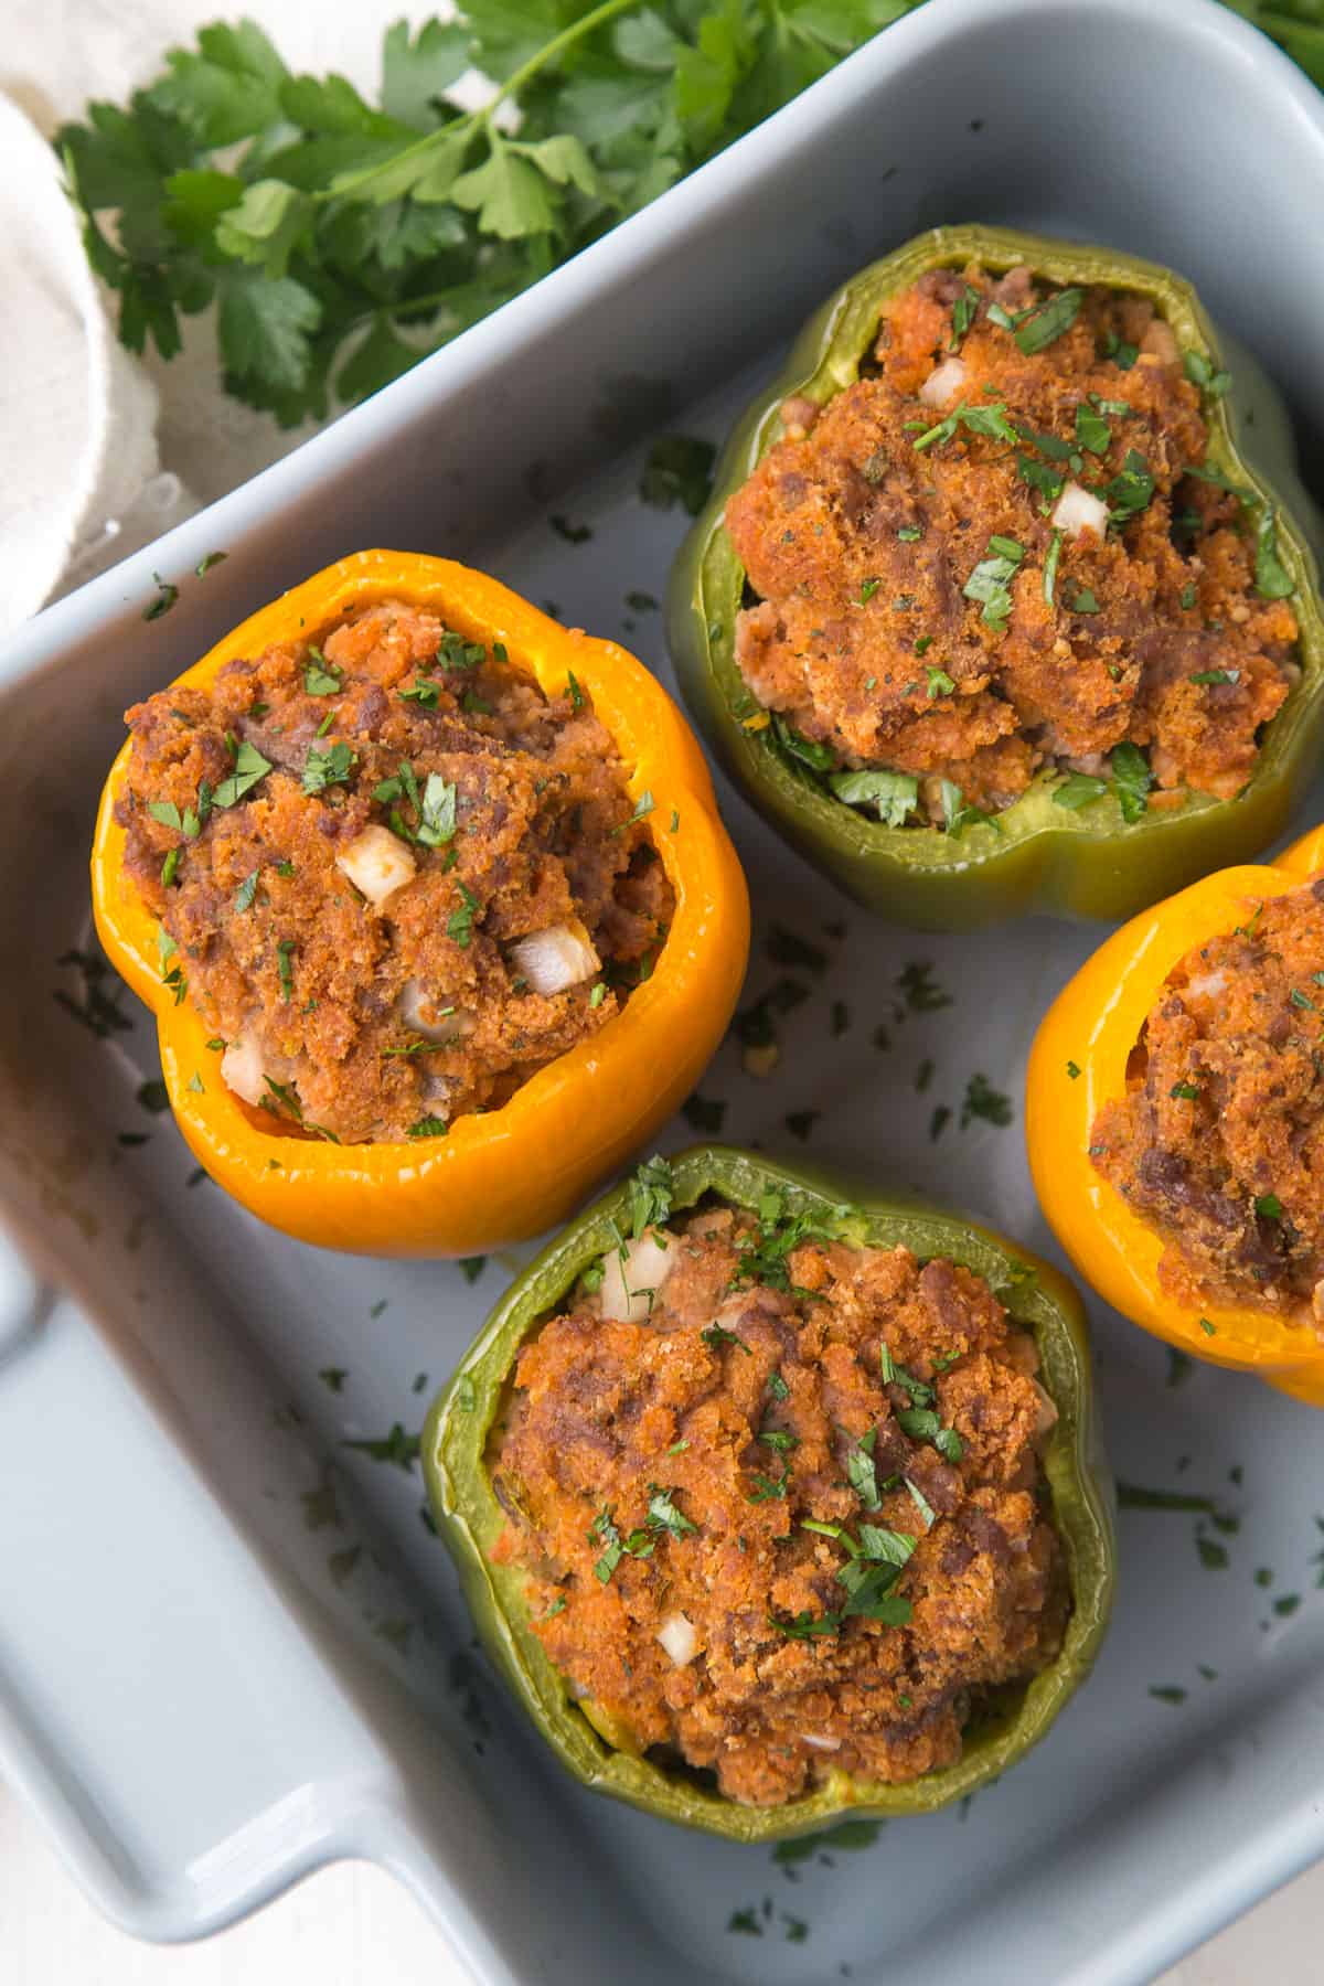
[[[1324,618],[1314,552],[1300,528],[1312,510],[1292,467],[1282,405],[1255,363],[1239,359],[1227,397],[1207,395],[1209,465],[1239,485],[1249,516],[1266,532],[1276,520],[1278,558],[1294,582],[1302,677],[1266,727],[1247,786],[1231,800],[1185,792],[1181,804],[1125,822],[1110,792],[1070,812],[1052,800],[1054,775],[1040,773],[996,826],[961,834],[931,826],[883,826],[838,800],[796,763],[774,731],[748,729],[758,715],[734,659],[744,568],[723,524],[727,498],[780,439],[780,407],[792,395],[826,403],[860,377],[877,336],[881,304],[937,268],[979,262],[991,272],[1016,264],[1054,284],[1106,284],[1149,298],[1185,352],[1209,373],[1223,367],[1215,332],[1195,292],[1153,262],[1112,248],[1082,248],[1010,228],[933,228],[854,276],[808,322],[776,381],[758,395],[721,459],[715,495],[673,568],[667,632],[685,699],[732,779],[762,814],[850,896],[917,929],[957,931],[1024,912],[1064,918],[1129,918],[1197,876],[1249,860],[1288,824],[1318,759],[1324,729]],[[1257,463],[1241,449],[1249,429]],[[1286,496],[1290,510],[1282,506]]]

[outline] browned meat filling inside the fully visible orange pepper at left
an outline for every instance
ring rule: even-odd
[[[673,892],[584,691],[548,699],[435,614],[359,610],[127,723],[117,818],[163,975],[280,1130],[389,1142],[494,1108],[665,939]]]

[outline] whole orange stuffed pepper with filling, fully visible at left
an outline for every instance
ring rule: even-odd
[[[193,1152],[286,1233],[538,1233],[721,1041],[744,878],[691,731],[615,643],[361,552],[127,723],[97,931]]]

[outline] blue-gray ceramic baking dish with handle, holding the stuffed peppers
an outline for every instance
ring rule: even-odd
[[[191,1184],[169,1116],[135,1100],[155,1055],[131,997],[133,1027],[109,1041],[52,997],[81,991],[56,959],[87,943],[85,848],[123,707],[280,586],[367,544],[449,552],[619,636],[671,681],[657,612],[625,602],[661,598],[685,526],[637,498],[647,439],[721,439],[852,268],[965,218],[1149,254],[1189,274],[1324,427],[1322,187],[1314,95],[1203,0],[945,0],[10,643],[0,1764],[125,1924],[195,1934],[365,1853],[417,1889],[484,1986],[661,1986],[677,1970],[1114,1986],[1151,1978],[1324,1849],[1316,1422],[1251,1380],[1171,1362],[1098,1303],[1118,1476],[1207,1495],[1223,1527],[1124,1509],[1096,1676],[1014,1773],[867,1851],[790,1865],[580,1793],[472,1652],[417,1468],[343,1446],[419,1428],[532,1249],[468,1283],[457,1265],[268,1233]],[[592,538],[566,542],[552,512]],[[210,550],[226,562],[193,578]],[[181,598],[145,624],[153,568]],[[705,1076],[723,1134],[796,1154],[786,1116],[822,1112],[810,1156],[1054,1253],[1020,1082],[1036,1015],[1098,933],[907,937],[846,906],[728,788],[723,806],[754,892],[746,1001],[784,977],[808,987],[770,1080],[730,1043]],[[822,969],[778,965],[774,927],[812,941]],[[907,1009],[909,961],[931,963],[949,1007]],[[1012,1096],[1012,1126],[961,1128],[975,1072]],[[933,1138],[937,1106],[953,1118]],[[677,1120],[659,1144],[691,1138]],[[339,1392],[326,1368],[345,1368]],[[742,1911],[756,1930],[728,1928]]]

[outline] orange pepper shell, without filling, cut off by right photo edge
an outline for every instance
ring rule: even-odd
[[[1312,1406],[1324,1406],[1324,1345],[1314,1331],[1249,1305],[1189,1309],[1169,1297],[1157,1273],[1163,1241],[1094,1170],[1090,1126],[1108,1100],[1125,1092],[1127,1057],[1179,959],[1245,923],[1264,898],[1286,896],[1320,872],[1324,828],[1314,828],[1272,864],[1219,870],[1131,918],[1044,1015],[1026,1076],[1034,1190],[1086,1281],[1124,1317],[1183,1352],[1257,1372]]]

